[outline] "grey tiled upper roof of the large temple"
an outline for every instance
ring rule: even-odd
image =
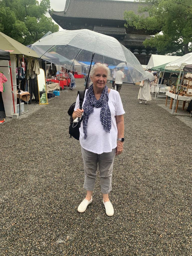
[[[146,6],[146,4],[127,1],[66,0],[64,11],[53,11],[51,16],[124,20],[123,15],[125,11],[133,11],[136,15],[141,15],[138,9],[143,6]],[[148,12],[145,12],[143,15],[148,17]]]

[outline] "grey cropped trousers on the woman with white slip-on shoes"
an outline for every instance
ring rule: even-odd
[[[112,189],[115,148],[109,153],[95,154],[81,147],[81,153],[84,163],[84,189],[94,190],[98,166],[102,194],[108,194]]]

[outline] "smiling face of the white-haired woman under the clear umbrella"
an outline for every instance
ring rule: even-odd
[[[107,71],[103,67],[97,67],[95,73],[91,76],[93,87],[103,89],[107,84],[107,77]]]

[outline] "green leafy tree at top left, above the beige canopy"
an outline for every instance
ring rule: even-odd
[[[38,41],[48,31],[59,26],[46,14],[49,0],[0,0],[0,31],[24,45]]]

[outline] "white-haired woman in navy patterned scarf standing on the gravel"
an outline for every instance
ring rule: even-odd
[[[82,113],[84,115],[79,128],[79,141],[84,163],[84,189],[87,190],[87,195],[79,205],[78,212],[84,212],[93,201],[98,166],[105,212],[112,216],[114,210],[109,200],[109,192],[114,156],[121,154],[123,150],[125,111],[119,93],[106,85],[109,73],[107,64],[94,64],[90,72],[93,84],[86,90],[82,110],[79,109],[79,96],[77,97],[73,119],[81,117]]]

